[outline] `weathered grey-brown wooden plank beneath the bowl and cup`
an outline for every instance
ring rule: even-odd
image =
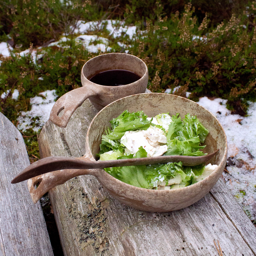
[[[41,157],[84,155],[95,113],[86,100],[65,129],[47,122],[39,137]],[[225,186],[219,181],[196,204],[165,213],[119,203],[91,175],[73,178],[49,194],[64,255],[219,255],[214,241],[220,242],[223,255],[256,255],[255,228],[241,208],[237,211]],[[225,203],[222,193],[229,193]]]

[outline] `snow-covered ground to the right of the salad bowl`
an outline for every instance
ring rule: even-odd
[[[198,103],[215,115],[228,141],[228,166],[223,178],[251,220],[256,219],[256,103],[250,102],[249,115],[231,115],[227,100],[207,97]]]

